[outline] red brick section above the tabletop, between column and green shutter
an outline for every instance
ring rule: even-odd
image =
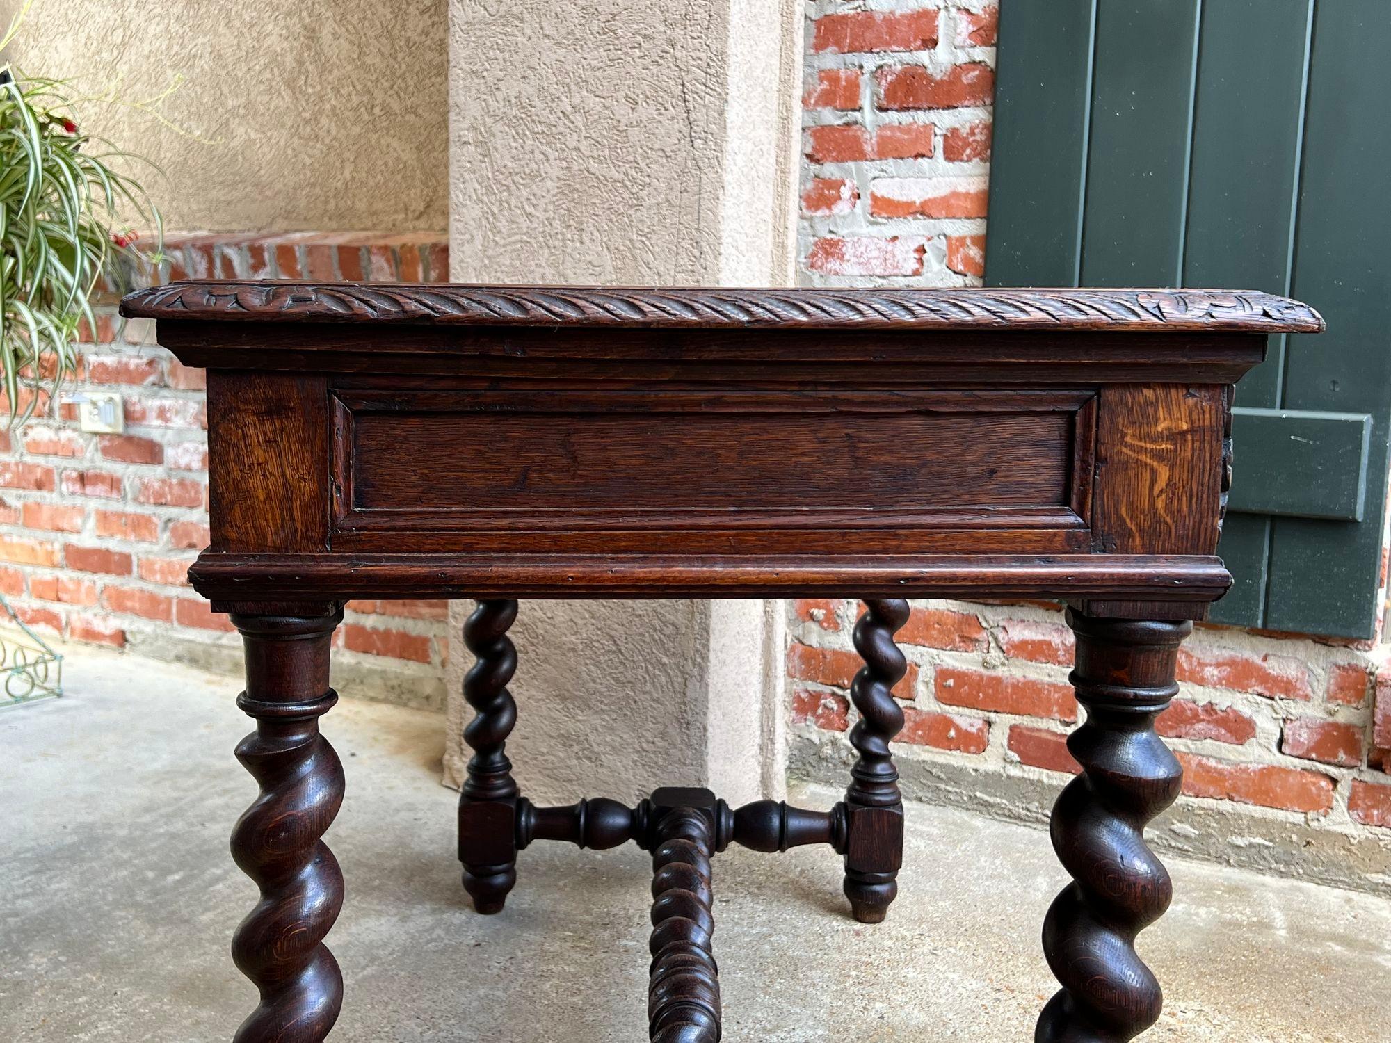
[[[821,0],[808,19],[803,281],[976,284],[997,7],[862,8]]]

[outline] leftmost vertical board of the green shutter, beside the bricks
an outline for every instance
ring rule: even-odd
[[[1075,286],[1092,90],[1096,0],[1000,6],[989,223],[1015,232],[990,245],[1003,286]]]

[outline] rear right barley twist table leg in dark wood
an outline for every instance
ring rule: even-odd
[[[893,698],[893,686],[908,670],[893,636],[907,622],[907,601],[867,599],[854,631],[855,651],[865,665],[850,684],[860,720],[850,730],[858,758],[846,790],[844,891],[861,923],[883,921],[899,893],[903,797],[889,743],[903,727],[903,709]]]

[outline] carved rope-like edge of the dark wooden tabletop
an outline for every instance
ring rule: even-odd
[[[1308,305],[1205,289],[626,289],[186,281],[136,291],[131,318],[771,330],[1319,332]]]

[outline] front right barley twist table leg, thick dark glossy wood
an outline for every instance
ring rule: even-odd
[[[1163,993],[1135,936],[1168,908],[1168,872],[1145,825],[1178,797],[1182,768],[1155,733],[1177,694],[1187,622],[1095,619],[1068,611],[1072,686],[1086,720],[1067,741],[1082,773],[1053,807],[1053,848],[1072,884],[1043,922],[1043,951],[1063,989],[1036,1043],[1125,1043],[1159,1019]]]

